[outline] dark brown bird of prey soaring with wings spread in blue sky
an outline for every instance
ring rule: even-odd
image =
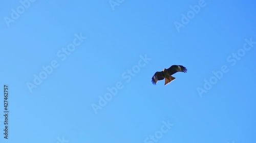
[[[175,79],[175,77],[173,77],[172,75],[175,74],[176,72],[186,73],[187,69],[186,67],[183,67],[181,65],[173,65],[173,66],[170,66],[168,69],[164,68],[163,71],[156,72],[154,74],[154,76],[152,77],[152,83],[156,85],[158,80],[165,79],[164,85],[166,85]]]

